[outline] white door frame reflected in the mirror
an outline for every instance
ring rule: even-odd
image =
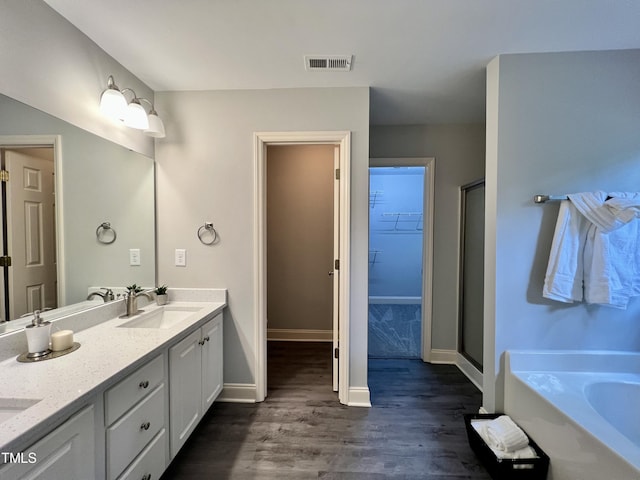
[[[62,136],[60,135],[0,135],[2,148],[53,147],[53,173],[55,175],[56,196],[56,263],[58,279],[58,306],[66,305],[64,218],[62,191]]]

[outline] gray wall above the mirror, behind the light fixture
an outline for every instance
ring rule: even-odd
[[[113,75],[153,101],[153,91],[41,0],[0,6],[0,93],[115,143],[153,155],[153,139],[100,113]],[[160,116],[163,112],[159,110]]]

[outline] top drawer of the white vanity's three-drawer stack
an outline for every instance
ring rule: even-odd
[[[164,380],[162,355],[140,367],[105,393],[105,420],[111,425]]]

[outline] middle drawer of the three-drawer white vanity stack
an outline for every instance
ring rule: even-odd
[[[164,427],[164,383],[107,428],[107,477],[114,479]]]

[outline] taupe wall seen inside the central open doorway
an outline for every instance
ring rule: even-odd
[[[267,148],[269,329],[333,330],[334,149]]]

